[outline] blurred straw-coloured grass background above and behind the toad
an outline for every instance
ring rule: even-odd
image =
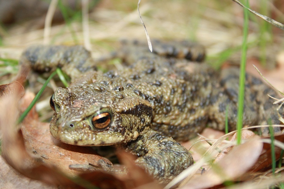
[[[93,51],[103,53],[103,49],[113,50],[113,44],[107,42],[119,39],[146,40],[137,12],[138,1],[89,2],[89,32]],[[253,10],[284,22],[283,0],[249,2]],[[0,0],[2,58],[17,58],[26,46],[43,42],[44,20],[49,4],[48,0]],[[240,47],[243,13],[242,8],[233,1],[143,0],[140,12],[150,38],[198,41],[206,46],[209,57],[220,53],[224,57],[231,56]],[[278,50],[283,46],[283,31],[255,15],[250,18],[249,43],[251,47],[257,46],[256,51],[261,51],[262,58],[269,58],[272,54],[270,45],[277,45]],[[82,44],[81,20],[80,0],[59,0],[49,43]],[[7,52],[11,48],[15,50]]]

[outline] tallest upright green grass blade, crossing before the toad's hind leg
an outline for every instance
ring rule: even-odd
[[[246,0],[248,7],[248,0]],[[244,86],[245,86],[245,67],[247,58],[247,38],[248,38],[248,10],[244,9],[244,28],[243,28],[243,42],[242,42],[242,56],[241,56],[241,69],[239,79],[239,94],[238,94],[238,111],[237,111],[237,144],[241,143],[241,129],[243,127],[243,111],[244,111]]]

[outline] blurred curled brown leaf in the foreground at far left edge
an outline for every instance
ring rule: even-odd
[[[55,172],[49,167],[40,165],[35,158],[29,154],[24,146],[23,135],[16,128],[16,119],[18,114],[18,94],[21,87],[7,87],[5,91],[12,91],[9,96],[1,96],[0,109],[5,110],[0,113],[0,127],[2,131],[2,157],[6,162],[29,178],[45,181],[49,184],[60,184],[69,182],[64,176]],[[7,93],[7,92],[3,93]]]

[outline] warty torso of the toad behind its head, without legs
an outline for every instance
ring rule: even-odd
[[[206,126],[212,91],[210,77],[214,75],[209,67],[160,56],[142,57],[121,75],[127,81],[121,83],[125,95],[151,103],[154,130],[187,140]]]

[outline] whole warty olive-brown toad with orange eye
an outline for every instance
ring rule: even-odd
[[[119,145],[138,156],[136,162],[158,181],[168,182],[193,164],[178,142],[188,140],[206,125],[223,129],[228,105],[229,127],[237,114],[236,69],[218,76],[200,61],[201,46],[189,42],[154,43],[154,52],[138,42],[124,43],[118,54],[121,70],[95,71],[88,51],[80,46],[36,46],[23,53],[22,63],[34,70],[60,66],[72,78],[58,88],[50,103],[55,113],[50,133],[62,142],[80,146]],[[275,92],[247,76],[244,124],[278,123],[267,94]]]

